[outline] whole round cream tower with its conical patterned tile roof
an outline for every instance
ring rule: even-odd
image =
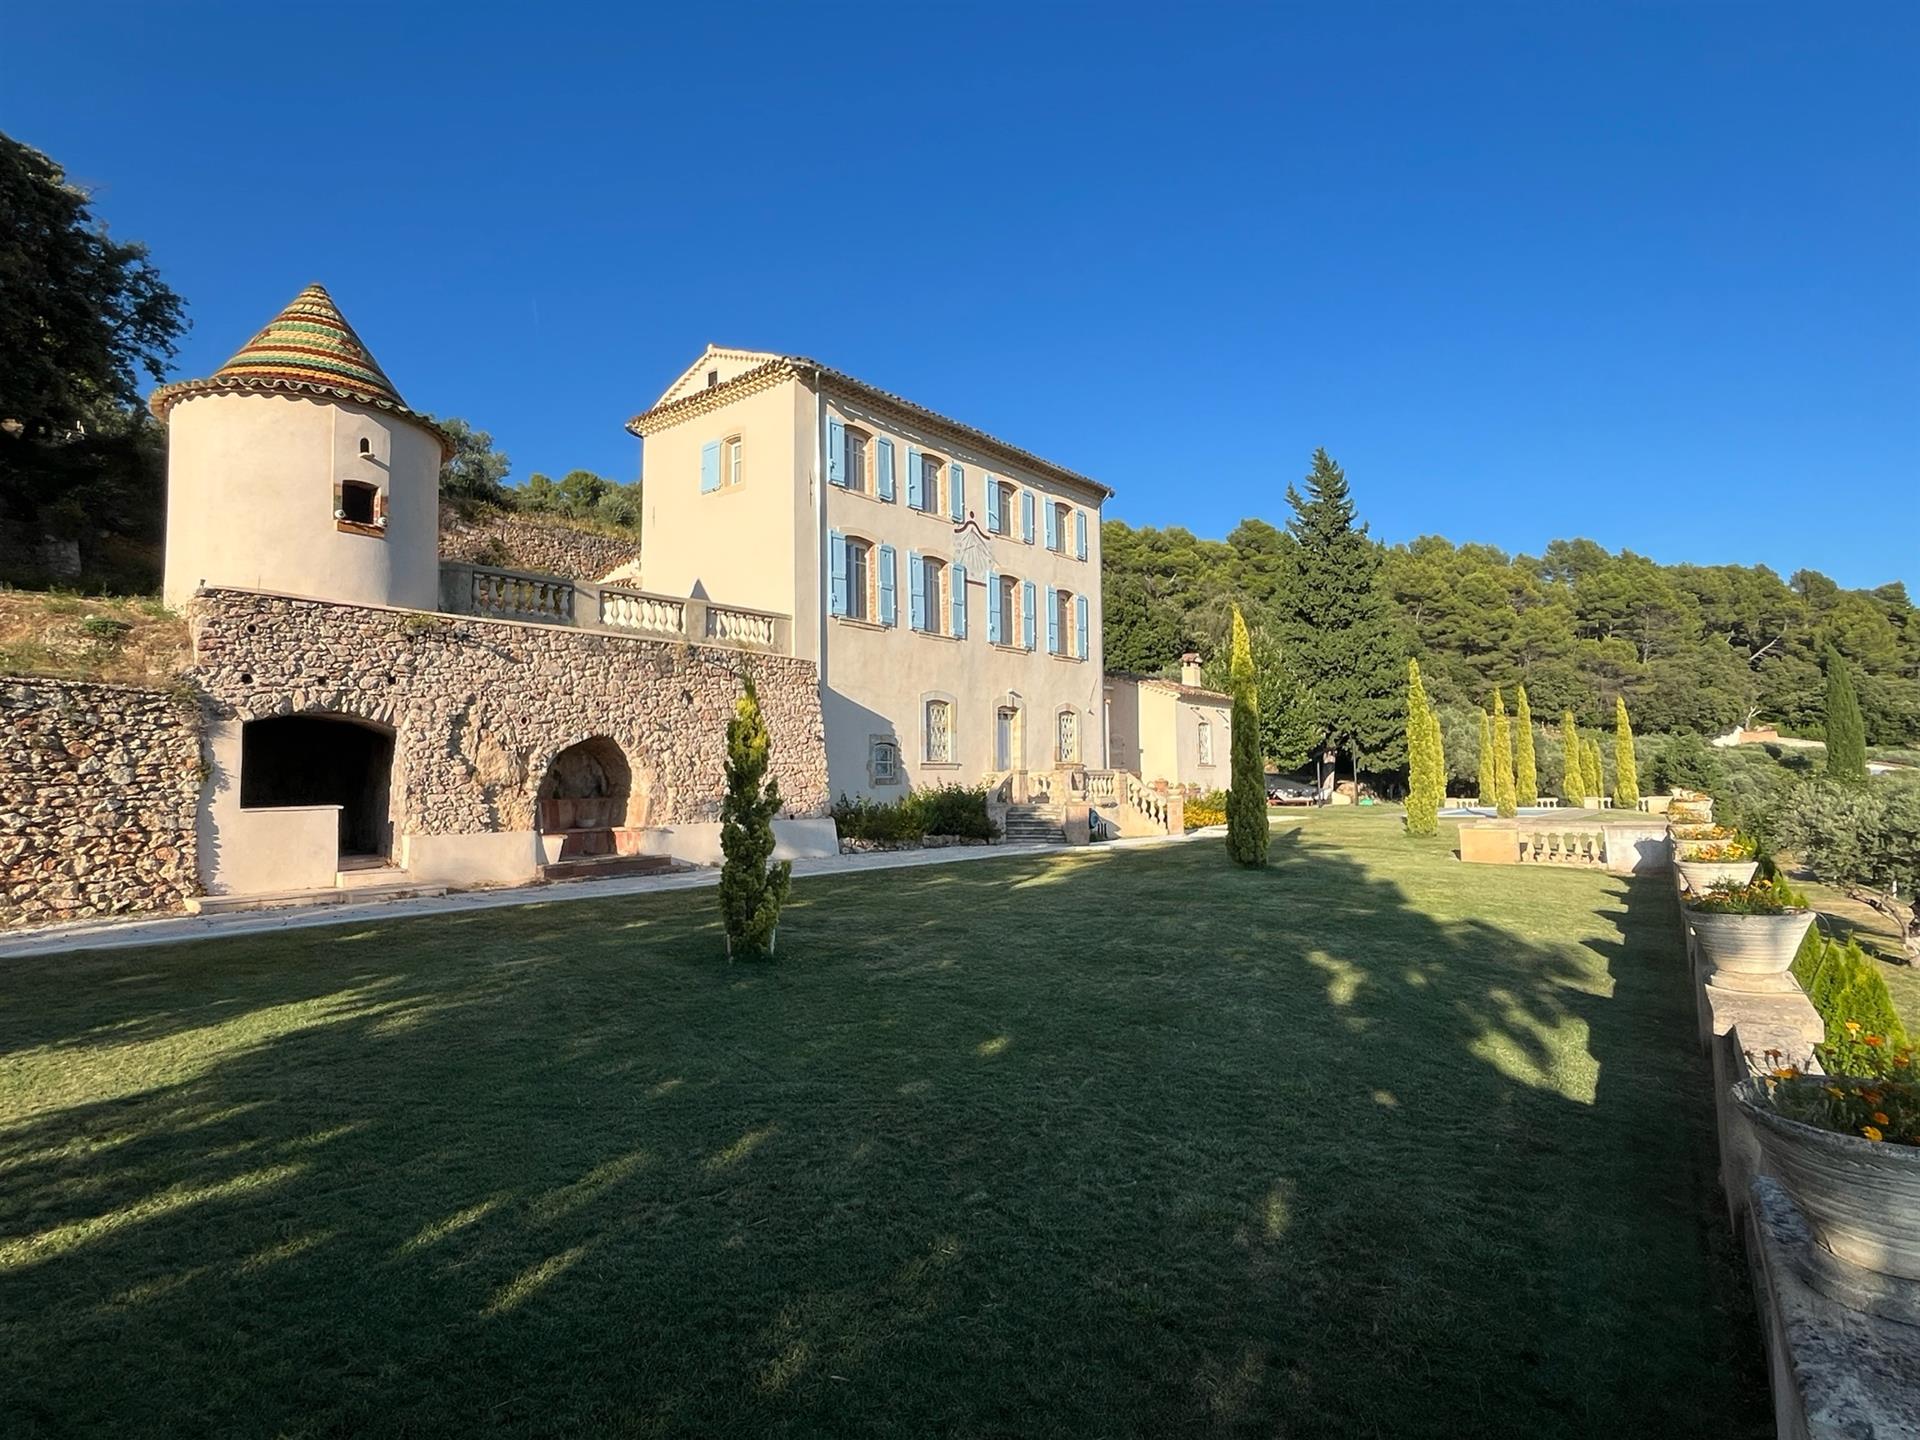
[[[167,605],[207,586],[434,609],[453,445],[324,288],[150,407],[167,422]]]

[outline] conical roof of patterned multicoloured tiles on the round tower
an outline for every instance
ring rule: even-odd
[[[309,284],[294,296],[265,330],[248,340],[209,378],[180,380],[156,390],[150,409],[165,420],[167,411],[188,396],[232,390],[280,390],[323,399],[351,399],[417,420],[440,438],[447,453],[453,449],[440,426],[407,409],[386,371],[321,284]]]

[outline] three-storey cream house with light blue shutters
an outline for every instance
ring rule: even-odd
[[[793,616],[835,795],[1106,768],[1106,486],[770,351],[708,348],[628,428],[643,584]]]

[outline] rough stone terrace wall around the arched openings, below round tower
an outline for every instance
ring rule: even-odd
[[[720,818],[726,722],[753,668],[783,814],[828,808],[810,660],[561,626],[202,591],[196,678],[217,714],[332,712],[394,732],[401,828],[534,829],[553,756],[605,735],[626,755],[636,824]]]

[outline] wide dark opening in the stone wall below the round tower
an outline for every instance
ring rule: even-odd
[[[240,808],[340,806],[340,854],[394,843],[394,732],[348,714],[282,714],[240,728]]]

